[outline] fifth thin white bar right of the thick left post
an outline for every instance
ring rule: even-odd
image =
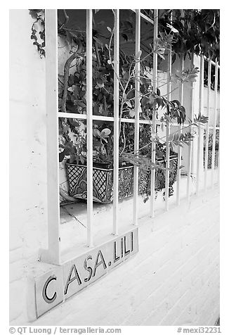
[[[172,13],[171,13],[172,24]],[[171,47],[168,55],[168,71],[167,71],[167,99],[171,100]],[[169,210],[169,135],[170,122],[166,121],[166,170],[165,170],[165,210]]]

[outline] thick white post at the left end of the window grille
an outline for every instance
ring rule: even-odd
[[[60,201],[58,150],[58,18],[56,9],[46,9],[46,148],[48,198],[48,250],[41,260],[60,265]]]

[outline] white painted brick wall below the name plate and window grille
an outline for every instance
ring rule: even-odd
[[[214,325],[219,315],[218,190],[140,220],[139,251],[32,325]],[[98,311],[99,306],[99,311]]]

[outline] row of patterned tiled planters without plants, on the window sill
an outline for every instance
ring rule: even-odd
[[[171,157],[171,162],[175,160],[177,166],[177,156]],[[157,162],[162,160],[157,160]],[[119,167],[119,200],[133,196],[133,165],[124,163]],[[69,182],[69,193],[74,198],[86,199],[86,165],[76,163],[66,163],[67,178]],[[176,169],[174,169],[174,173]],[[155,189],[158,188],[156,171]],[[150,171],[139,170],[138,194],[149,193],[150,191]],[[113,199],[113,169],[107,164],[93,164],[93,201],[98,203],[110,203]]]

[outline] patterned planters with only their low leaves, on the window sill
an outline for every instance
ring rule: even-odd
[[[81,126],[79,126],[81,127]],[[103,126],[104,127],[104,126]],[[68,129],[65,126],[65,131]],[[70,132],[70,130],[67,130]],[[65,139],[67,138],[65,134]],[[80,137],[78,137],[79,140]],[[93,200],[99,203],[110,203],[113,195],[113,141],[112,130],[98,127],[93,129]],[[63,151],[60,153],[60,160],[64,156],[70,156],[66,162],[66,170],[69,182],[69,194],[75,198],[86,199],[86,148],[85,139],[74,146],[74,142],[67,139],[65,146],[60,144]],[[148,167],[148,155],[140,158],[138,194],[150,194],[150,171]],[[156,149],[156,185],[155,190],[159,191],[165,187],[165,151],[162,145],[157,144]],[[133,195],[133,165],[137,164],[136,158],[128,153],[123,153],[119,160],[119,199]],[[172,184],[176,180],[177,155],[171,151],[170,157],[170,195]]]

